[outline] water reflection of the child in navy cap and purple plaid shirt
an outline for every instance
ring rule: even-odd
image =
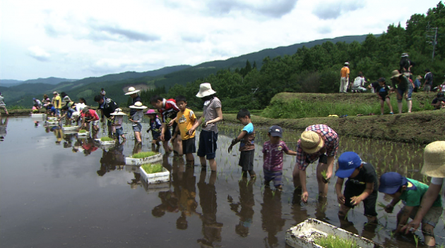
[[[264,244],[275,247],[278,244],[277,233],[283,230],[285,219],[281,218],[281,191],[264,188],[263,204],[261,204],[261,220],[263,230],[266,230],[268,237],[264,238]]]

